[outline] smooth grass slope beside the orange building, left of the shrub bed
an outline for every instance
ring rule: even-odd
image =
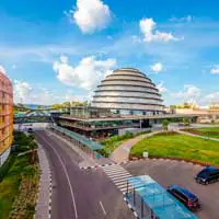
[[[9,218],[13,200],[19,193],[21,174],[27,164],[27,155],[16,158],[8,175],[0,183],[0,219]]]

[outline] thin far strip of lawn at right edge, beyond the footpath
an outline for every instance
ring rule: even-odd
[[[193,128],[193,129],[185,129],[185,130],[192,134],[200,135],[200,136],[219,138],[219,127]]]

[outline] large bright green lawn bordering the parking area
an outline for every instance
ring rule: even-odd
[[[219,165],[219,142],[175,132],[158,134],[139,141],[131,148],[131,157],[176,158],[209,162]]]

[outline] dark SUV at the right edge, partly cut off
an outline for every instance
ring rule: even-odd
[[[219,181],[219,169],[207,166],[195,176],[195,180],[197,183],[205,185],[217,182]]]

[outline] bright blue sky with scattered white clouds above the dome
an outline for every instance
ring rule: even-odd
[[[134,67],[164,104],[219,102],[218,0],[1,0],[0,69],[14,102],[91,100]]]

